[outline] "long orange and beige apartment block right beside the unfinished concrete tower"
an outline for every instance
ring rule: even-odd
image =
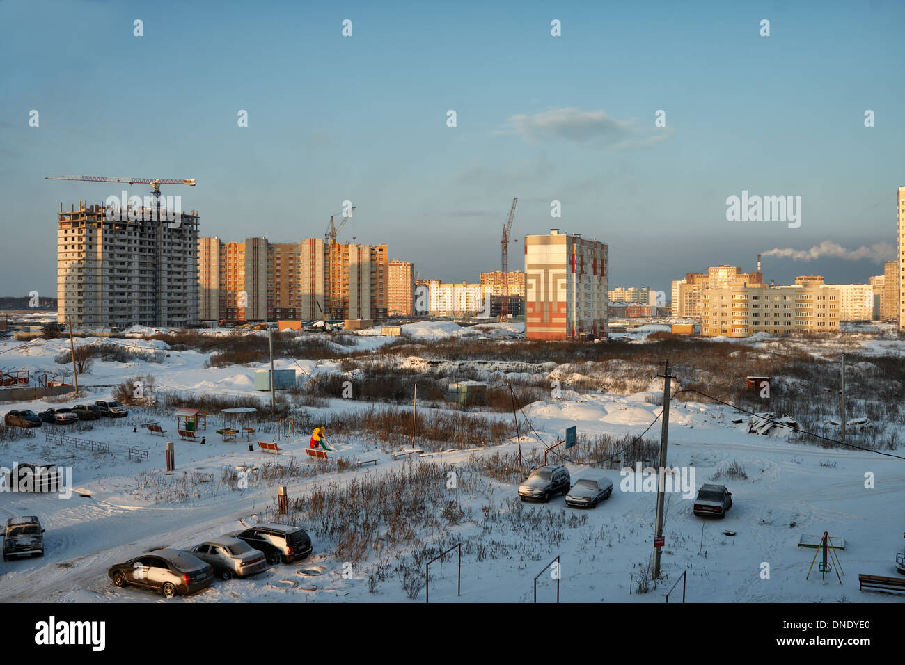
[[[319,238],[302,242],[201,238],[199,317],[229,322],[384,319],[386,256],[386,245],[331,245]]]

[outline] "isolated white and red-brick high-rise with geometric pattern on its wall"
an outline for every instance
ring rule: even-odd
[[[525,337],[605,336],[609,247],[553,229],[525,236]]]

